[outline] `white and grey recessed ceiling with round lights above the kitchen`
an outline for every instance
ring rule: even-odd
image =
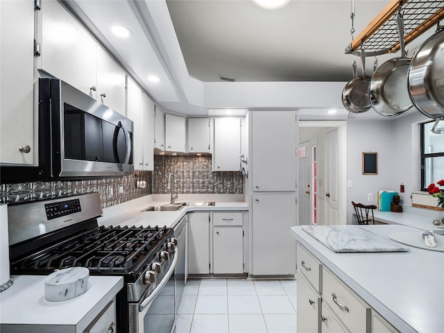
[[[355,35],[390,2],[355,1]],[[258,84],[263,87],[274,83],[272,89],[266,90],[271,95],[282,90],[282,84],[291,92],[296,83],[332,83],[329,87],[334,87],[334,96],[337,96],[334,104],[341,108],[341,90],[352,78],[354,56],[344,54],[345,46],[352,41],[350,0],[291,0],[275,10],[261,8],[253,0],[65,0],[60,3],[89,28],[121,67],[167,112],[204,115],[207,108],[218,108],[207,105],[207,90],[213,89],[215,96],[214,85],[223,85],[225,89],[232,84],[221,81],[220,76],[234,78],[234,84],[248,84],[243,86],[244,92],[255,90]],[[112,35],[112,24],[130,28],[131,37],[123,40]],[[416,45],[420,45],[420,38]],[[412,42],[407,49],[417,46]],[[379,64],[395,56],[378,56]],[[367,73],[373,68],[373,60],[373,57],[367,58]],[[160,83],[148,80],[152,74],[162,78]],[[289,96],[286,92],[282,92],[282,96]],[[280,101],[271,106],[298,108],[300,102],[295,103],[294,97],[289,105]],[[323,119],[330,108],[325,104],[311,102],[305,112],[310,119]],[[252,106],[258,105],[225,105]],[[299,110],[302,114],[303,110]],[[345,109],[338,114],[339,119],[347,119]],[[359,119],[361,117],[383,118],[376,112],[359,114]]]

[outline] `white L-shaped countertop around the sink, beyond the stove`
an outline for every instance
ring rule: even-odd
[[[169,196],[155,196],[149,197],[144,196],[142,198],[137,198],[130,200],[126,203],[121,203],[120,205],[105,208],[103,210],[103,216],[99,217],[99,225],[105,225],[106,227],[113,226],[125,226],[128,227],[147,227],[148,225],[154,226],[164,226],[168,228],[174,228],[176,223],[182,219],[188,212],[196,211],[225,211],[225,210],[248,210],[248,203],[244,202],[224,202],[217,200],[217,197],[205,196],[203,200],[200,200],[199,196],[194,196],[194,200],[189,198],[184,199],[181,196],[176,200],[176,203],[184,201],[207,201],[213,200],[216,205],[214,206],[182,206],[182,208],[175,212],[141,212],[147,207],[155,205],[165,205],[169,203]],[[210,199],[206,199],[210,198]]]

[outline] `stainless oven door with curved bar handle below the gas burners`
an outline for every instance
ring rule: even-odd
[[[173,261],[154,291],[137,303],[137,325],[130,325],[134,333],[171,333],[176,325],[174,311],[174,268],[179,250],[174,250]],[[130,311],[131,312],[131,311]]]

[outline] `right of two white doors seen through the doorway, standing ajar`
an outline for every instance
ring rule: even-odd
[[[325,224],[339,224],[339,140],[338,130],[325,135]]]

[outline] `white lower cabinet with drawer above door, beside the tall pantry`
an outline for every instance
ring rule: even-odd
[[[244,273],[244,221],[241,212],[213,212],[213,273]]]

